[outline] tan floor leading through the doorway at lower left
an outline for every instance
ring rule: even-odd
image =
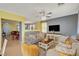
[[[22,56],[19,40],[8,39],[5,56]]]

